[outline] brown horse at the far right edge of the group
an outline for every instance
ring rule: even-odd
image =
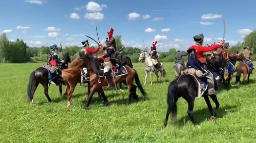
[[[245,61],[244,60],[245,59],[244,54],[239,54],[238,59],[242,60],[242,61]],[[250,75],[253,72],[253,69],[250,70],[249,66],[245,62],[240,62],[238,64],[238,66],[236,67],[236,72],[237,72],[237,74],[236,74],[236,84],[241,83],[240,78],[241,78],[242,73],[244,75],[244,80],[243,81],[245,82],[246,78],[247,78],[247,82],[249,83]]]

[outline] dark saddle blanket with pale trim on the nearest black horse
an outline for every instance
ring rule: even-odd
[[[192,75],[192,74],[188,73],[187,75]],[[180,76],[179,79],[182,76]],[[197,87],[198,87],[198,89],[197,89],[197,97],[200,98],[204,94],[204,92],[207,90],[207,87],[208,87],[207,78],[206,77],[198,78],[195,75],[192,75],[192,77],[194,78],[194,80],[197,83]],[[177,80],[177,82],[179,81],[179,79]]]

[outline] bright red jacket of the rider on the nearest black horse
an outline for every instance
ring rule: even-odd
[[[203,47],[203,46],[199,46],[199,45],[193,45],[192,47],[190,47],[188,49],[188,53],[191,53],[191,51],[194,49],[196,52],[196,58],[199,60],[200,63],[206,63],[206,58],[205,55],[203,54],[203,52],[207,52],[207,51],[211,51],[217,48],[221,48],[221,45],[212,45],[210,47]]]

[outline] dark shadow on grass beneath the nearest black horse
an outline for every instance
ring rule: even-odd
[[[232,113],[235,111],[237,111],[237,105],[228,105],[228,106],[221,107],[217,111],[216,120],[224,117],[227,113]],[[204,109],[194,111],[193,116],[194,116],[195,122],[200,125],[200,123],[202,123],[203,121],[209,121],[211,114],[208,108],[204,108]],[[182,117],[180,120],[175,121],[171,124],[178,125],[179,127],[183,127],[187,122],[191,122],[188,115]]]

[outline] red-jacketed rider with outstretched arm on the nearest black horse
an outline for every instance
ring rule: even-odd
[[[206,58],[203,52],[221,48],[223,41],[221,41],[221,43],[212,45],[210,47],[203,47],[202,46],[203,38],[204,36],[202,34],[195,35],[193,37],[194,45],[187,50],[187,52],[189,53],[187,66],[191,66],[192,68],[201,70],[204,73],[203,75],[207,78],[207,82],[208,82],[208,95],[215,95],[216,92],[214,89],[214,77],[213,77],[213,74],[205,66]],[[193,57],[192,54],[194,54],[195,56]]]

